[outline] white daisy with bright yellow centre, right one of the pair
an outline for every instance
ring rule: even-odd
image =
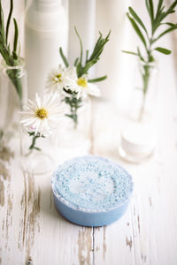
[[[99,88],[96,85],[89,83],[86,75],[83,75],[80,78],[77,77],[75,67],[70,68],[69,76],[74,80],[74,83],[71,83],[70,89],[78,93],[77,97],[87,97],[87,95],[101,95]]]

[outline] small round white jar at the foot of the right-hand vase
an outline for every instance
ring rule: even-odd
[[[130,155],[150,155],[156,145],[151,124],[130,124],[121,132],[121,148]]]

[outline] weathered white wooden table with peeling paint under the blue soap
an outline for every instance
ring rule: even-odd
[[[133,176],[135,191],[125,216],[109,226],[67,222],[54,207],[50,175],[27,175],[17,157],[0,155],[0,264],[177,264],[177,48],[160,64],[157,148],[141,164],[118,154],[121,115],[112,102],[94,102],[91,153],[104,155]],[[102,117],[102,118],[100,118]],[[73,154],[74,155],[74,154]],[[84,155],[84,154],[83,154]]]

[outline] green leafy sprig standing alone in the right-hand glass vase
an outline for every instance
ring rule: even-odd
[[[177,28],[177,24],[173,24],[170,22],[163,22],[171,13],[175,12],[174,8],[177,5],[177,0],[173,1],[173,4],[170,5],[165,11],[164,0],[158,0],[157,8],[155,8],[153,0],[145,0],[146,10],[148,11],[148,15],[150,18],[150,32],[148,32],[147,27],[142,22],[142,19],[137,15],[135,10],[132,7],[128,8],[127,18],[129,19],[132,27],[135,29],[135,33],[138,35],[139,39],[142,42],[142,46],[144,49],[143,56],[142,50],[137,47],[136,51],[127,51],[122,50],[123,52],[139,57],[142,62],[142,110],[140,113],[140,119],[142,117],[142,112],[144,108],[144,102],[146,98],[146,94],[149,87],[150,81],[150,63],[155,61],[154,53],[156,51],[169,55],[171,54],[170,49],[166,49],[163,47],[155,46],[156,42],[161,39],[165,34],[168,34]],[[162,29],[160,32],[160,28],[165,26],[165,29]],[[160,33],[159,33],[160,32]]]

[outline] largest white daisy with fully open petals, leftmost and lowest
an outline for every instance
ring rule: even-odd
[[[53,133],[64,118],[64,106],[57,94],[35,95],[35,101],[28,100],[21,111],[21,123],[27,132],[48,136]]]

